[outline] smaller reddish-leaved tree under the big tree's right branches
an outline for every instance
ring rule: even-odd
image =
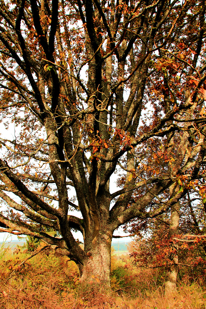
[[[153,269],[155,276],[158,273],[157,284],[165,283],[167,295],[176,291],[178,281],[205,284],[206,224],[199,192],[192,189],[178,207],[157,218],[147,219],[144,228],[143,222],[133,222],[130,230],[134,233],[139,223],[141,231],[144,230],[129,247],[132,263]],[[175,222],[178,223],[175,225]]]

